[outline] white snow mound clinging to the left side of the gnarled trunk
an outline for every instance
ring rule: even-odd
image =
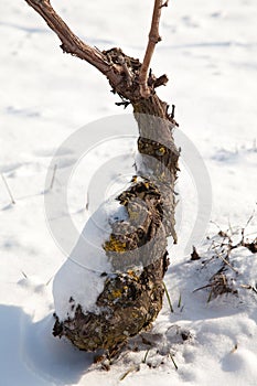
[[[71,309],[74,303],[81,304],[85,313],[97,312],[95,303],[106,280],[101,274],[114,272],[103,244],[111,233],[111,216],[125,218],[122,212],[121,205],[114,199],[103,203],[86,223],[73,251],[55,275],[54,309],[60,320],[74,314]]]

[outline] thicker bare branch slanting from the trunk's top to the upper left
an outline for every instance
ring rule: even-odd
[[[111,84],[119,83],[119,66],[110,65],[105,60],[105,55],[97,49],[84,43],[73,31],[67,26],[63,19],[55,12],[50,0],[25,0],[47,23],[62,42],[61,49],[77,56],[105,74]],[[108,74],[108,75],[107,75]]]

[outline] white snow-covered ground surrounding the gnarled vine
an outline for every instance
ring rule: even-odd
[[[55,0],[53,6],[89,44],[100,50],[120,46],[142,58],[152,3]],[[193,292],[208,285],[222,259],[212,259],[217,254],[210,249],[213,238],[205,237],[196,246],[200,260],[191,261],[185,248],[196,216],[208,211],[197,207],[200,192],[195,175],[190,174],[190,157],[181,162],[179,245],[170,248],[165,276],[174,312],[165,299],[148,336],[152,346],[131,350],[107,373],[92,365],[92,354],[52,336],[53,278],[67,257],[45,221],[44,192],[50,187],[45,179],[52,157],[81,127],[131,111],[115,105],[117,96],[96,69],[62,53],[58,40],[25,1],[2,0],[0,10],[0,173],[15,201],[11,203],[0,179],[1,384],[256,385],[257,294],[253,288],[257,255],[244,247],[232,251],[237,274],[227,266],[226,275],[237,294],[210,301],[210,288]],[[244,227],[257,200],[256,19],[254,0],[170,1],[161,22],[163,41],[152,62],[157,75],[168,73],[170,78],[159,95],[176,105],[180,130],[207,168],[213,190],[211,219],[222,229]],[[78,233],[88,217],[87,186],[94,187],[104,165],[110,162],[110,168],[117,158],[119,169],[109,174],[98,196],[114,194],[122,178],[120,170],[131,163],[132,139],[122,146],[119,152],[115,142],[98,144],[74,171],[68,208]],[[64,150],[54,183],[73,163],[73,154]],[[125,182],[131,173],[127,172]],[[205,181],[200,182],[204,190]],[[211,196],[208,190],[205,193]],[[201,232],[204,228],[201,224]],[[205,236],[217,232],[211,224]],[[256,216],[247,234],[257,236]],[[221,243],[218,236],[214,240]]]

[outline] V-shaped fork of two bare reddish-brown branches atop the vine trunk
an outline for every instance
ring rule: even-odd
[[[124,74],[126,77],[127,87],[131,88],[133,84],[133,74],[131,74],[131,71],[122,55],[120,56],[118,64],[109,63],[108,57],[106,57],[104,52],[100,52],[96,47],[92,47],[87,43],[83,42],[78,36],[76,36],[73,33],[73,31],[71,31],[67,24],[52,8],[50,0],[25,1],[45,20],[51,30],[53,30],[57,34],[62,42],[61,49],[64,52],[69,53],[73,56],[77,56],[95,66],[104,75],[106,75],[106,77],[109,79],[111,87],[114,89],[117,89],[117,92],[119,92],[119,88],[122,87]],[[138,93],[136,93],[133,89],[135,95],[138,94],[139,98],[149,98],[150,95],[154,94],[154,87],[151,87],[151,85],[149,85],[149,83],[151,84],[151,82],[149,82],[149,68],[156,45],[161,41],[161,36],[159,34],[159,24],[161,10],[163,7],[168,7],[168,1],[162,3],[162,0],[154,0],[148,45],[138,76],[139,90]],[[165,77],[164,83],[167,82],[168,78]],[[158,86],[161,86],[164,83],[159,82]]]

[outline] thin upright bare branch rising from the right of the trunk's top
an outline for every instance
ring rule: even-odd
[[[148,45],[146,50],[146,54],[143,57],[142,66],[139,74],[139,84],[140,84],[140,92],[141,96],[143,98],[147,98],[150,96],[151,92],[148,86],[148,74],[149,74],[149,67],[152,58],[152,54],[154,52],[156,45],[158,42],[161,41],[161,36],[159,34],[159,24],[160,24],[160,18],[161,18],[161,10],[162,7],[168,6],[168,1],[162,4],[162,0],[154,0],[154,8],[152,13],[152,23],[151,29],[149,33],[149,40]]]

